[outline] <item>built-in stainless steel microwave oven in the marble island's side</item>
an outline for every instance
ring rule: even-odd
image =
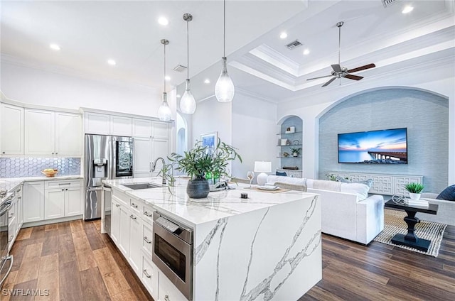
[[[154,212],[152,261],[176,288],[193,299],[193,229]]]

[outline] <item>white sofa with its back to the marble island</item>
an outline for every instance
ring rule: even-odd
[[[384,229],[384,198],[368,197],[368,185],[269,175],[267,183],[303,185],[321,195],[322,231],[368,244]]]

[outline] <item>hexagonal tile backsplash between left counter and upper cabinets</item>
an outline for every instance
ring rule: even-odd
[[[0,177],[42,177],[41,170],[58,168],[57,175],[80,175],[80,158],[0,158]]]

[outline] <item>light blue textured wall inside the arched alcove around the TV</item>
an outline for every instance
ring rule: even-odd
[[[408,164],[338,163],[338,133],[407,128]],[[449,102],[422,89],[382,87],[337,102],[319,118],[319,178],[329,171],[423,175],[426,191],[448,182]]]

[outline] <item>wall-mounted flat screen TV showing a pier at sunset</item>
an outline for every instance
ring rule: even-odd
[[[338,163],[407,164],[407,128],[339,133]]]

